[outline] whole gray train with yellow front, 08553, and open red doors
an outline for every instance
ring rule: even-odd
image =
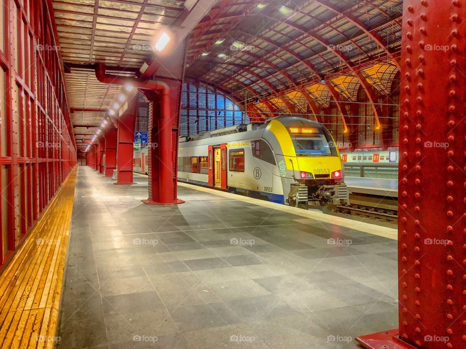
[[[178,180],[290,206],[346,204],[335,144],[325,126],[298,116],[181,137]],[[147,174],[147,150],[134,150],[135,172]]]

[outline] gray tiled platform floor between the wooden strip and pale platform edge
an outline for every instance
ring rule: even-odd
[[[395,241],[184,187],[147,206],[135,179],[79,169],[58,348],[354,348],[328,339],[397,327]]]

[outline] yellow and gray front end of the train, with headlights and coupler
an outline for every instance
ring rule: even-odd
[[[327,128],[302,117],[280,116],[267,123],[263,137],[274,149],[289,205],[349,202],[343,163]]]

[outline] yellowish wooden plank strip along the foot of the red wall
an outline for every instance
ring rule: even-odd
[[[77,166],[0,275],[0,348],[53,348]]]

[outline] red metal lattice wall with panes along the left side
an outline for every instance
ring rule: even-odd
[[[0,11],[0,266],[77,161],[49,1]]]

